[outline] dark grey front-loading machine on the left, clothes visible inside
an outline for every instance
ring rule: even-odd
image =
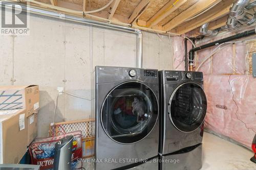
[[[96,66],[93,74],[95,169],[147,166],[158,155],[158,70]]]

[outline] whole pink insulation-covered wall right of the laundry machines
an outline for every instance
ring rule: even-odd
[[[227,36],[231,35],[214,40]],[[216,47],[197,52],[196,68]],[[248,148],[256,133],[256,79],[251,75],[251,56],[255,51],[256,40],[224,44],[199,68],[204,73],[208,105],[205,127]]]

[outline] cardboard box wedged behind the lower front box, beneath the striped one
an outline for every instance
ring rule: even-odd
[[[28,142],[27,145],[30,145],[30,143],[36,138],[37,136],[37,112],[30,115],[27,118],[27,127],[28,127]]]

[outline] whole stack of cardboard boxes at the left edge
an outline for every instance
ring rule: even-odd
[[[0,164],[22,159],[37,136],[38,109],[38,86],[0,86]]]

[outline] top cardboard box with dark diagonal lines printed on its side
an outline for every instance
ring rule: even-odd
[[[26,117],[39,109],[39,87],[0,86],[0,110],[26,109]]]

